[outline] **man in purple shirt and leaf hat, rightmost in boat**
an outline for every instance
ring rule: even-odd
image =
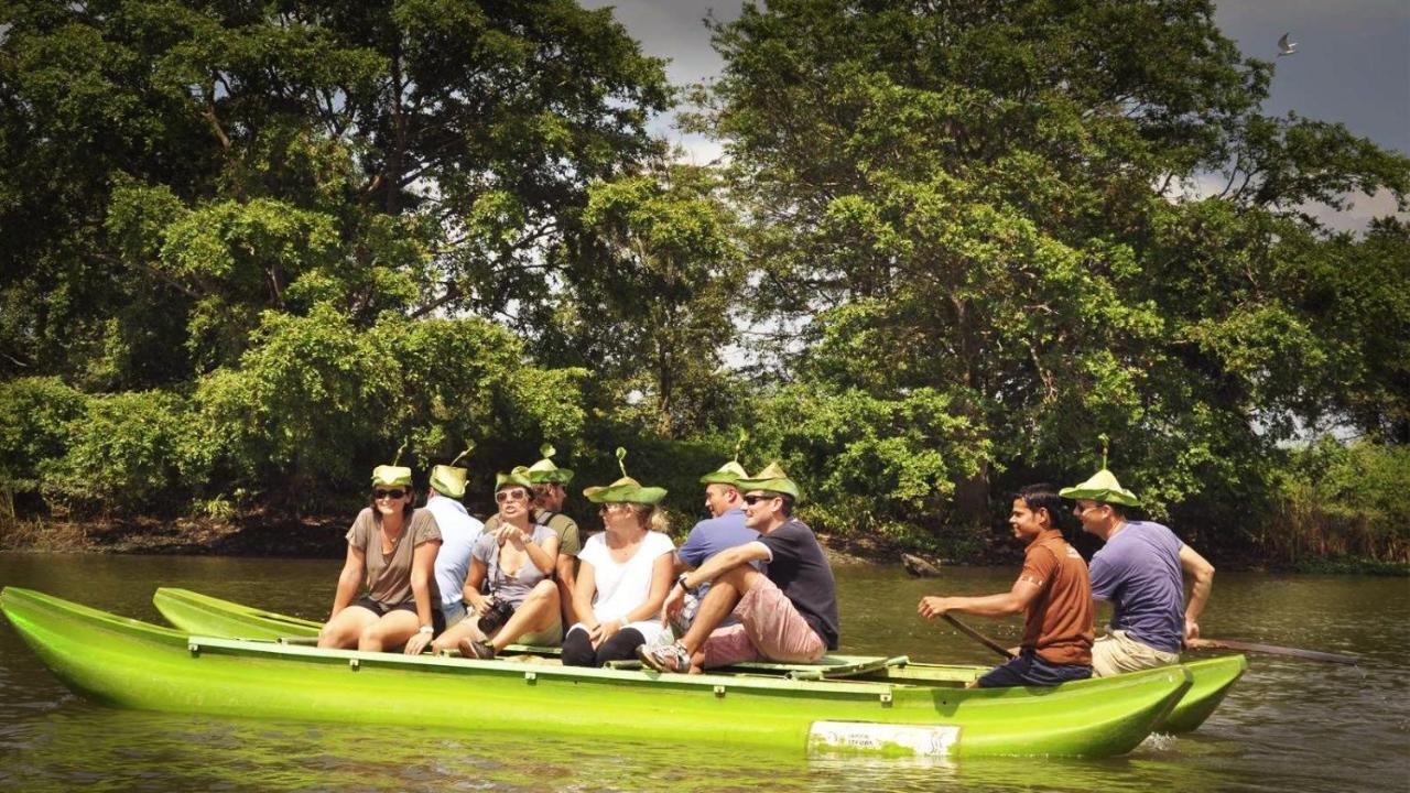
[[[1091,648],[1093,674],[1179,663],[1184,641],[1200,635],[1214,566],[1160,523],[1132,521],[1128,509],[1141,501],[1105,467],[1059,495],[1074,500],[1083,531],[1105,542],[1087,566],[1091,597],[1114,607],[1108,634]],[[1189,604],[1182,571],[1194,580]]]

